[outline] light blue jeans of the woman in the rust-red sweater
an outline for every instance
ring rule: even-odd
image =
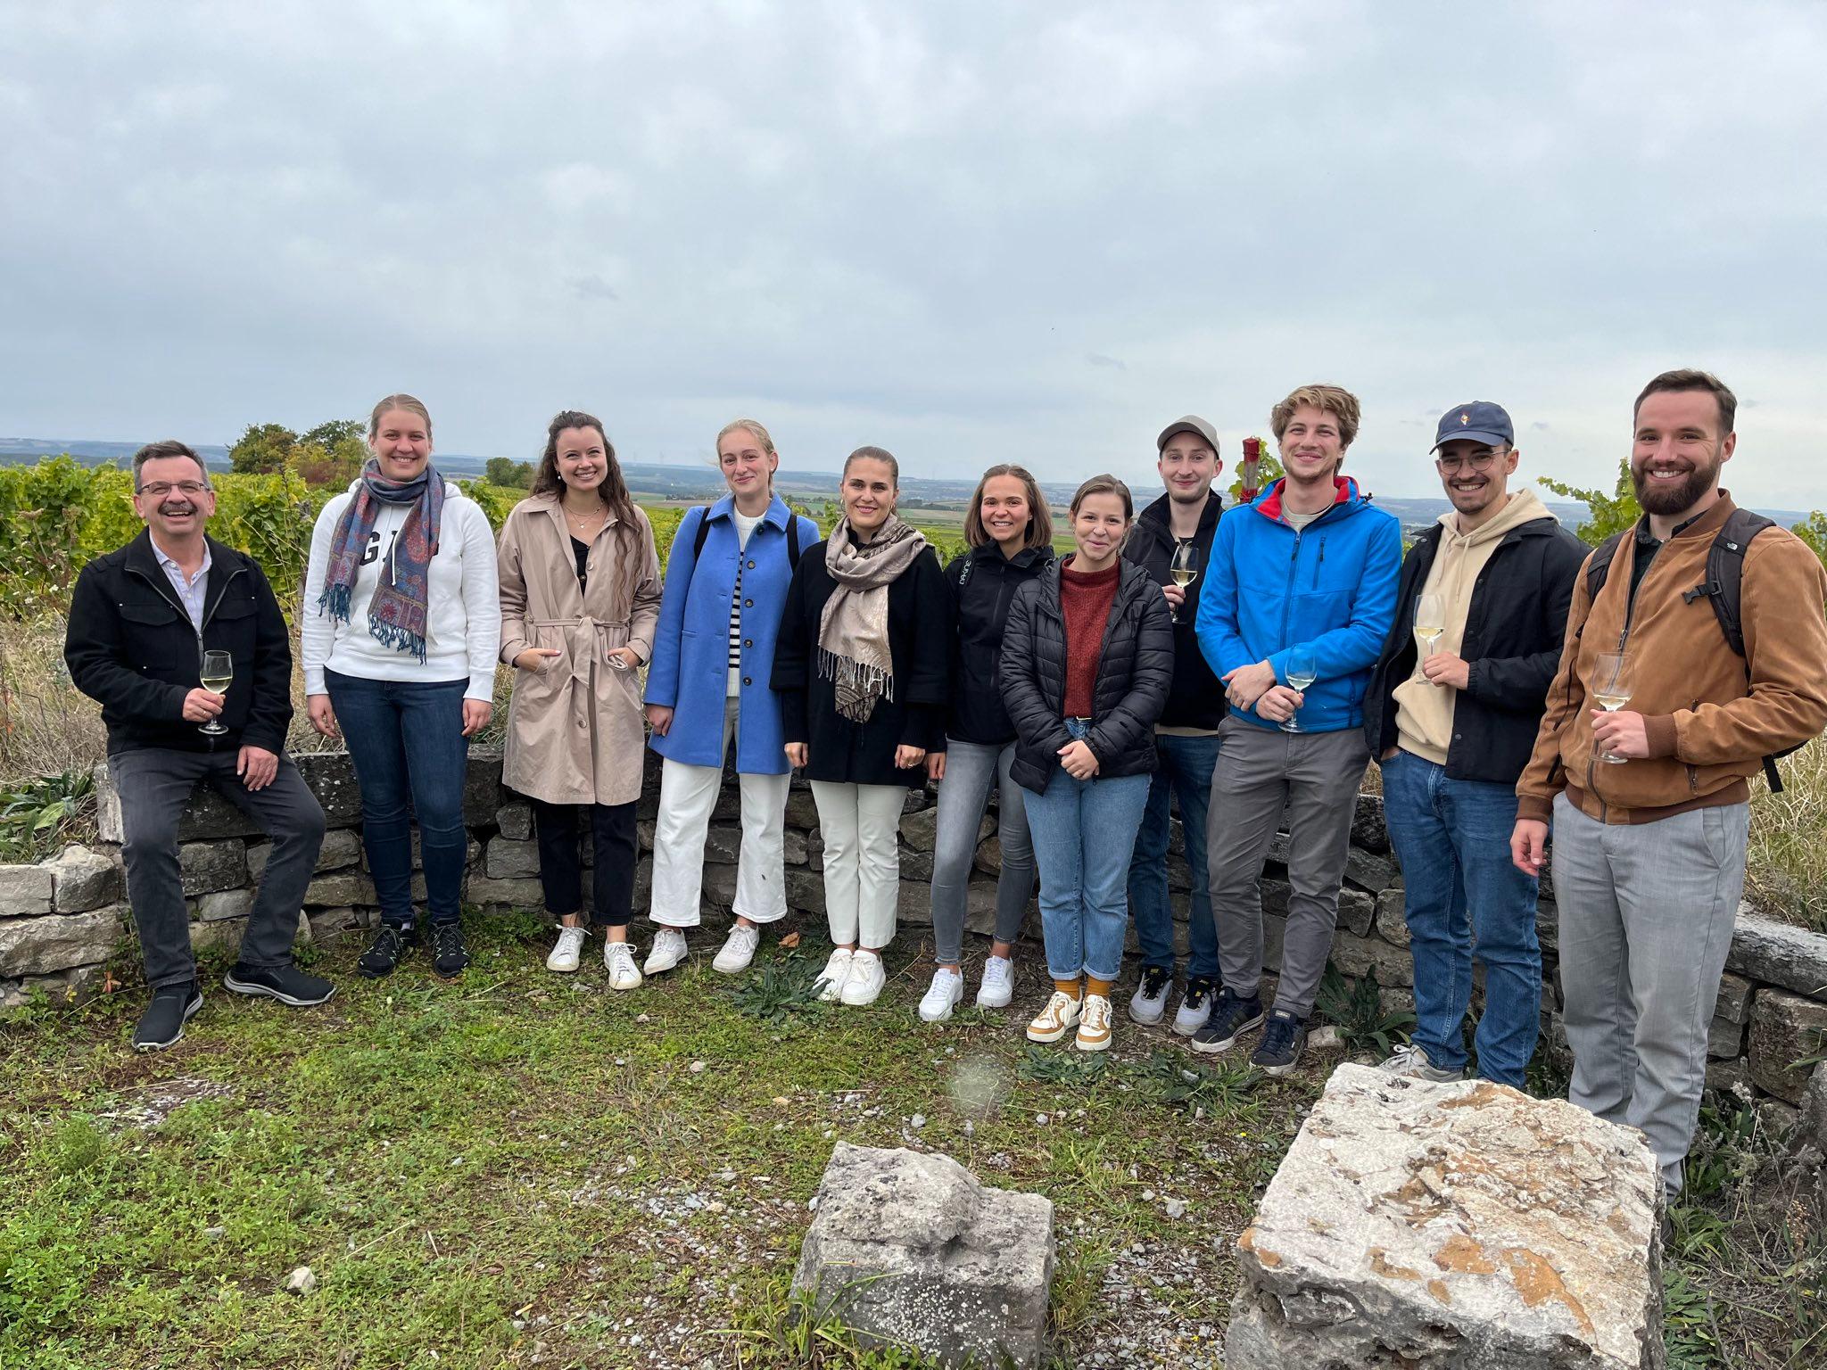
[[[1065,720],[1074,738],[1089,731]],[[1124,968],[1124,882],[1147,776],[1072,780],[1058,771],[1045,793],[1027,796],[1029,833],[1040,866],[1040,926],[1054,979],[1116,979]]]

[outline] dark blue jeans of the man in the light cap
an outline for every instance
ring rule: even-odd
[[[1180,831],[1186,835],[1186,866],[1193,895],[1186,917],[1191,946],[1188,977],[1219,977],[1219,926],[1211,921],[1211,890],[1206,884],[1206,809],[1211,804],[1211,773],[1219,767],[1219,734],[1177,738],[1155,734],[1160,769],[1147,787],[1142,831],[1129,862],[1129,913],[1142,943],[1142,964],[1173,970],[1173,902],[1167,895],[1167,795],[1180,800]]]

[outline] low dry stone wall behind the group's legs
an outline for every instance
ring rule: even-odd
[[[296,760],[329,820],[316,875],[305,891],[300,933],[327,939],[371,926],[376,917],[375,884],[362,855],[362,806],[354,767],[343,753],[314,753]],[[647,760],[638,824],[638,915],[647,910],[654,815],[660,804],[660,762],[656,756]],[[119,979],[132,981],[137,975],[132,917],[122,902],[126,884],[119,864],[121,811],[106,767],[97,767],[97,795],[100,842],[93,849],[69,848],[55,860],[37,866],[0,866],[0,1010],[24,1003],[40,988],[53,999],[84,999],[100,988],[110,966]],[[523,798],[502,787],[501,754],[495,751],[471,751],[464,818],[470,826],[466,902],[484,912],[541,908],[532,811]],[[705,848],[703,902],[713,922],[729,915],[734,899],[738,824],[736,785],[725,776]],[[932,924],[928,880],[935,826],[935,793],[910,791],[901,820],[903,939],[921,937],[923,928]],[[238,807],[210,789],[199,789],[185,809],[179,842],[192,943],[199,948],[232,948],[265,868],[267,840]],[[793,915],[815,922],[824,915],[822,853],[811,791],[795,782],[786,817],[786,893]],[[966,926],[972,932],[988,933],[994,926],[999,859],[994,818],[985,817],[968,891]],[[1262,875],[1268,970],[1281,963],[1281,933],[1286,926],[1284,859],[1284,840],[1277,840]],[[1178,818],[1171,820],[1167,884],[1175,895],[1177,943],[1184,952],[1191,879]],[[422,893],[417,877],[415,890]],[[1537,921],[1547,981],[1542,996],[1544,1032],[1549,1043],[1564,1049],[1555,966],[1558,913],[1553,884],[1547,880],[1542,884]],[[1030,915],[1027,930],[1030,937],[1040,937],[1038,915]],[[1381,800],[1363,795],[1352,824],[1332,959],[1346,975],[1374,970],[1387,1001],[1412,1006],[1414,966],[1407,946],[1401,871],[1390,855]],[[1743,910],[1727,966],[1708,1041],[1708,1085],[1736,1085],[1756,1092],[1769,1100],[1769,1107],[1783,1122],[1801,1118],[1801,1105],[1814,1098],[1809,1094],[1811,1087],[1816,1096],[1827,1096],[1822,1065],[1794,1067],[1796,1061],[1822,1054],[1822,1034],[1827,1032],[1827,935]],[[1811,1107],[1807,1116],[1820,1112],[1820,1107]]]

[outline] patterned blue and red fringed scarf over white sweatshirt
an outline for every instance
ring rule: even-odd
[[[367,601],[367,630],[376,641],[424,661],[426,595],[431,583],[431,557],[438,553],[438,522],[444,517],[444,477],[429,462],[417,479],[398,484],[387,480],[380,473],[380,462],[369,457],[331,541],[318,612],[349,621],[349,595],[362,572],[362,550],[375,532],[375,517],[382,504],[413,508],[406,515],[406,526],[393,539],[375,595]]]

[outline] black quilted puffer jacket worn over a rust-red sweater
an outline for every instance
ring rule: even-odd
[[[1173,625],[1167,601],[1149,574],[1120,563],[1122,579],[1098,648],[1091,743],[1100,776],[1155,769],[1155,722],[1173,685]],[[1036,795],[1060,771],[1065,731],[1065,616],[1060,563],[1016,590],[1003,630],[1003,701],[1016,723],[1016,784]]]

